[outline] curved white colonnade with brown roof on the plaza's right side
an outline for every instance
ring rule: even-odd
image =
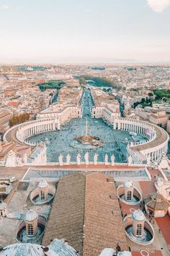
[[[148,137],[147,142],[128,145],[128,153],[133,156],[134,161],[141,162],[143,156],[151,161],[158,161],[162,154],[168,151],[169,135],[158,125],[141,120],[119,118],[114,121],[113,128]]]

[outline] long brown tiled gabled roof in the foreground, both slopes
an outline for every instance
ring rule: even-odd
[[[94,172],[61,177],[42,245],[66,239],[80,255],[98,256],[106,247],[128,250],[115,183]]]

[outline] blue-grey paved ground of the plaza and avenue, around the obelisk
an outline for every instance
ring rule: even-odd
[[[37,134],[29,138],[31,142],[44,141],[47,144],[48,162],[58,162],[58,156],[63,155],[66,162],[66,155],[71,155],[71,162],[76,161],[76,155],[81,154],[81,161],[84,161],[84,154],[89,152],[89,161],[94,161],[94,154],[98,154],[98,161],[104,162],[104,156],[115,155],[115,162],[127,162],[127,142],[136,140],[146,141],[144,136],[130,136],[128,131],[113,131],[112,125],[102,119],[91,118],[92,101],[89,90],[84,92],[82,118],[73,118],[61,125],[60,131],[50,131],[48,133]],[[88,134],[98,136],[104,141],[101,147],[79,144],[74,138],[85,134],[86,118],[88,120]]]

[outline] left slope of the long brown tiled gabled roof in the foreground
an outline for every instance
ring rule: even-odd
[[[85,180],[79,173],[61,177],[42,244],[50,244],[50,239],[66,239],[82,255]]]

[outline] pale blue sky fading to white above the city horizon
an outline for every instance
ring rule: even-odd
[[[170,62],[169,2],[0,0],[0,63]]]

